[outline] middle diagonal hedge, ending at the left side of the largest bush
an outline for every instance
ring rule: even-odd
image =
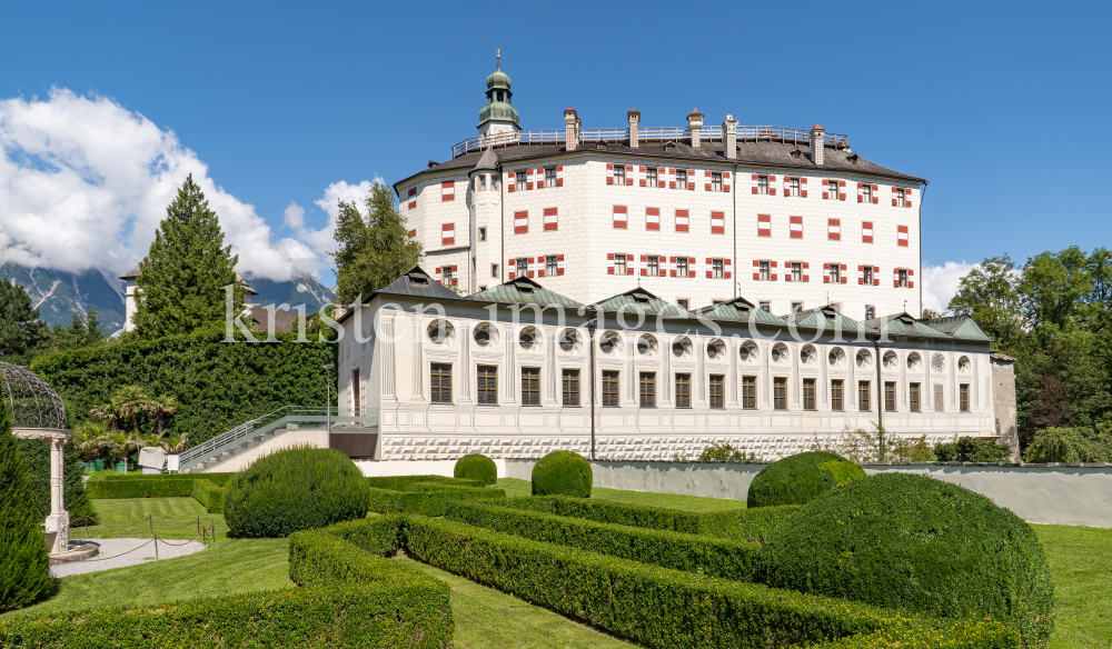
[[[753,580],[761,549],[748,541],[595,522],[481,502],[449,502],[444,516],[534,541],[736,581]]]

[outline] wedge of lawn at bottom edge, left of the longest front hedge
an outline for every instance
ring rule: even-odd
[[[610,649],[637,647],[592,627],[536,607],[500,590],[399,558],[421,572],[451,586],[455,649]]]

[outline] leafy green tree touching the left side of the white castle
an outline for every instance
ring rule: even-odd
[[[356,203],[340,201],[336,219],[336,284],[340,302],[354,302],[380,289],[420,262],[421,244],[409,237],[394,203],[394,192],[375,184],[364,199],[367,218]]]

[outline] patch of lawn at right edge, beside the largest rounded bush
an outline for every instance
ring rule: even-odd
[[[1054,581],[1051,649],[1112,647],[1112,529],[1031,526]]]

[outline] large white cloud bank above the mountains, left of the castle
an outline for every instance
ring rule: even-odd
[[[56,88],[46,100],[0,100],[0,262],[92,268],[110,277],[129,270],[192,173],[220,217],[226,243],[239,254],[240,271],[284,281],[331,264],[324,256],[331,213],[328,227],[311,230],[304,208],[290,203],[286,224],[298,238],[276,241],[255,207],[209,178],[208,167],[172,131],[111,99]],[[321,201],[332,194],[350,200],[369,187],[334,183]]]

